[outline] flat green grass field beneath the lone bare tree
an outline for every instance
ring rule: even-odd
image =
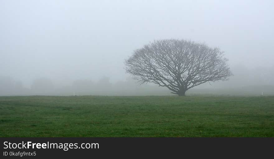
[[[2,96],[0,136],[274,137],[274,96]]]

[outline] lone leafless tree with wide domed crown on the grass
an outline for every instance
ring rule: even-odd
[[[157,40],[136,49],[125,60],[125,70],[142,83],[168,87],[185,96],[190,88],[205,82],[228,80],[232,75],[219,48],[187,40]]]

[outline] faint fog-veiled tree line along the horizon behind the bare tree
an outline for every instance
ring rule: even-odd
[[[267,91],[274,94],[274,66],[272,68],[247,68],[243,65],[234,65],[232,68],[234,76],[229,81],[212,82],[211,85],[201,84],[189,93],[225,93],[221,89],[234,89],[234,92],[242,91],[259,94]],[[206,89],[206,90],[205,90]],[[220,91],[215,91],[220,89]],[[211,90],[211,91],[210,91]],[[75,80],[66,86],[58,86],[49,78],[38,78],[32,81],[31,86],[26,88],[20,80],[12,77],[0,76],[0,96],[14,95],[169,95],[170,91],[163,87],[154,85],[139,85],[137,81],[128,77],[125,81],[111,83],[109,77],[102,77],[100,80],[89,79]],[[233,92],[233,93],[234,93]],[[230,94],[229,92],[228,94]]]

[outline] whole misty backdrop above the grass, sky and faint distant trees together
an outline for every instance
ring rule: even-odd
[[[191,94],[274,95],[274,2],[1,1],[0,96],[172,95],[125,73],[162,39],[219,47],[234,76]]]

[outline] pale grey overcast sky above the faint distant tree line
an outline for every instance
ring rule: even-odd
[[[124,60],[159,39],[220,47],[230,66],[273,67],[274,1],[0,0],[0,76],[125,80]]]

